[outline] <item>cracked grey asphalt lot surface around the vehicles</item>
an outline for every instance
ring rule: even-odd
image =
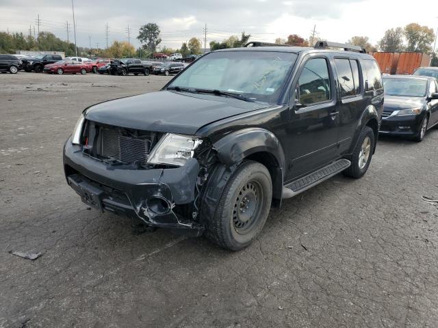
[[[168,79],[0,74],[0,327],[437,327],[438,130],[381,139],[237,253],[88,210],[62,171],[79,113]]]

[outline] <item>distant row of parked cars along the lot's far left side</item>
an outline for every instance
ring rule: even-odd
[[[136,58],[88,59],[85,57],[66,57],[61,55],[0,55],[0,71],[16,74],[26,72],[46,72],[49,74],[87,74],[89,72],[112,75],[128,74],[177,74],[188,64],[176,61],[142,61]]]

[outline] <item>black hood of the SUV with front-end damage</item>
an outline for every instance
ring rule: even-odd
[[[125,128],[194,135],[202,126],[268,107],[268,104],[209,94],[160,91],[101,102],[87,120]]]

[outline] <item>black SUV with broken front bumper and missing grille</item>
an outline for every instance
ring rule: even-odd
[[[68,184],[99,210],[246,247],[271,206],[370,165],[381,73],[328,46],[214,51],[159,92],[85,109],[64,146]]]

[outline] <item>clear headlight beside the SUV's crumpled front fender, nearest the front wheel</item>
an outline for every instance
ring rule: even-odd
[[[182,166],[193,157],[194,150],[202,142],[190,135],[166,133],[149,154],[148,163]]]

